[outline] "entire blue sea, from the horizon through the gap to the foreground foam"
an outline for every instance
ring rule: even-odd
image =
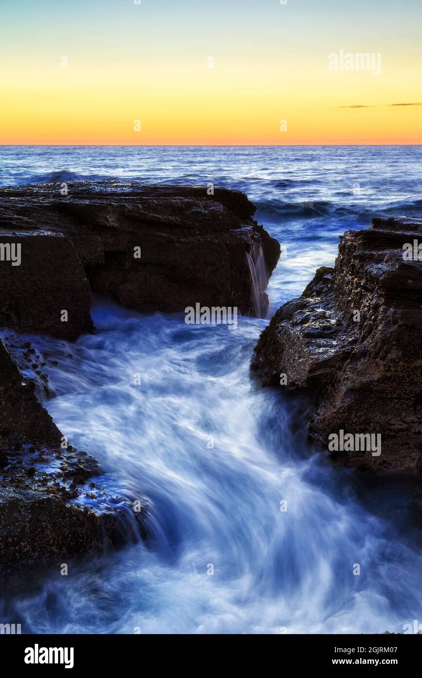
[[[261,388],[250,370],[269,317],[333,265],[339,235],[376,215],[421,216],[422,147],[0,146],[0,168],[3,186],[236,188],[282,247],[267,319],[239,317],[230,331],[94,298],[95,335],[31,338],[56,355],[56,395],[43,404],[98,458],[109,490],[148,500],[154,538],[49,574],[3,600],[0,618],[22,633],[378,633],[422,622],[415,479],[333,466],[306,438],[300,398]]]

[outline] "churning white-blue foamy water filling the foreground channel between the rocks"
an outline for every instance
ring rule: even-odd
[[[265,321],[186,326],[105,302],[93,319],[75,345],[33,338],[56,363],[43,403],[111,486],[148,498],[150,540],[9,601],[24,631],[351,633],[417,618],[416,483],[313,454],[301,401],[250,378]]]

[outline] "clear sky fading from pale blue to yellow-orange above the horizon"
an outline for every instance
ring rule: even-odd
[[[422,142],[421,0],[138,1],[0,0],[0,144]]]

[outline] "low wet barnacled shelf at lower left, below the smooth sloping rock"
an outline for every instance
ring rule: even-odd
[[[146,509],[101,490],[102,471],[77,450],[7,454],[0,469],[0,575],[42,571],[146,537]],[[96,487],[88,479],[96,477]]]

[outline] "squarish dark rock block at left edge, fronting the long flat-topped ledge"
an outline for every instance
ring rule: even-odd
[[[20,258],[0,260],[0,325],[69,341],[93,331],[89,283],[68,238],[0,231],[0,247],[19,248]]]

